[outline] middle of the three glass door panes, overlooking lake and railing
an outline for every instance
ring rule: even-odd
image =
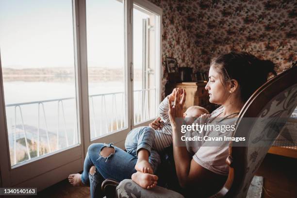
[[[128,129],[124,22],[123,0],[86,0],[91,142],[117,143],[123,133],[111,134]]]

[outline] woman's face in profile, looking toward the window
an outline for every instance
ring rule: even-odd
[[[215,104],[223,104],[230,95],[227,88],[224,87],[219,73],[214,70],[213,66],[209,69],[209,81],[205,89],[208,90],[209,101]]]

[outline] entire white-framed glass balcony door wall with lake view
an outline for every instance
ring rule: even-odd
[[[161,18],[147,0],[0,1],[1,186],[40,191],[157,116]]]

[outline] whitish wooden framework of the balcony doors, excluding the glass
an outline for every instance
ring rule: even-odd
[[[78,117],[78,144],[64,148],[38,159],[20,163],[11,167],[8,145],[8,133],[6,126],[6,113],[4,103],[1,54],[0,54],[0,186],[3,187],[37,187],[41,191],[50,185],[67,178],[70,173],[80,172],[83,169],[83,162],[87,148],[92,143],[113,142],[116,146],[124,148],[124,141],[128,132],[133,126],[133,3],[158,15],[159,30],[157,39],[160,45],[157,46],[156,60],[158,68],[156,71],[158,98],[161,101],[162,84],[162,62],[161,62],[161,35],[162,35],[162,9],[148,0],[124,0],[125,15],[125,84],[126,84],[126,112],[128,126],[120,132],[113,132],[90,140],[89,122],[89,98],[88,98],[88,73],[87,73],[87,43],[86,43],[86,10],[85,0],[72,0],[73,4],[73,26],[74,26],[74,53],[75,53],[75,76],[77,88],[77,117]],[[129,111],[128,111],[129,110]],[[153,120],[153,119],[152,119]],[[148,120],[137,126],[148,125]]]

